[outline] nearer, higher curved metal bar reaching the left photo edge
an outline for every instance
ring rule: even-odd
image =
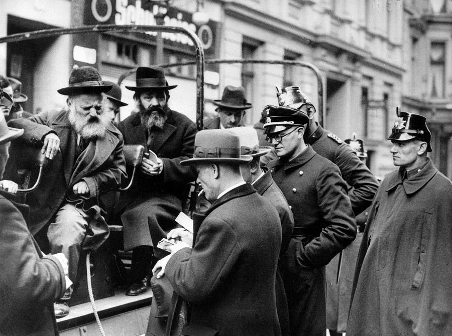
[[[170,32],[187,35],[193,42],[196,53],[196,126],[202,129],[204,114],[204,50],[199,37],[192,31],[182,27],[148,26],[148,25],[92,25],[76,28],[55,28],[34,32],[12,34],[0,38],[0,43],[19,42],[65,34],[102,33],[102,32]]]

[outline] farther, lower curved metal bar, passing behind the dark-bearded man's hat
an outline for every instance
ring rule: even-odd
[[[231,63],[267,63],[267,64],[293,64],[293,65],[299,65],[302,67],[306,67],[311,69],[315,77],[317,79],[317,95],[318,95],[318,110],[321,111],[318,114],[318,122],[322,127],[325,126],[325,120],[326,120],[326,112],[323,108],[323,80],[322,76],[320,74],[320,70],[313,64],[309,62],[302,62],[302,61],[290,61],[290,60],[249,60],[249,59],[232,59],[232,60],[224,60],[224,59],[206,59],[206,64],[231,64]],[[171,68],[171,67],[180,67],[185,65],[194,65],[196,64],[196,61],[187,61],[187,62],[177,62],[177,63],[170,63],[170,64],[158,64],[156,65],[159,68]],[[118,80],[118,84],[121,85],[123,80],[133,74],[137,71],[137,68],[131,69],[129,71],[124,72],[120,79]]]

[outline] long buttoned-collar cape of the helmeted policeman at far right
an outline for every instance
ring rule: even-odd
[[[429,160],[372,203],[347,336],[452,334],[452,183]]]

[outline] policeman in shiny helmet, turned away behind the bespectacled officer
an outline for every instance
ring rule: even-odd
[[[304,132],[305,143],[310,144],[317,154],[337,164],[342,178],[353,187],[349,194],[353,212],[355,215],[362,213],[370,206],[378,188],[372,172],[350,146],[314,120],[315,107],[298,86],[286,87],[277,96],[279,105],[292,105],[306,111],[309,121]]]

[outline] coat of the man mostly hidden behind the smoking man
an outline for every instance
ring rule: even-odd
[[[279,255],[282,256],[286,252],[287,246],[289,246],[290,237],[292,235],[294,226],[293,214],[281,189],[279,189],[275,181],[273,181],[270,171],[267,167],[264,167],[263,169],[265,170],[265,174],[253,183],[253,187],[259,195],[268,198],[276,207],[276,210],[278,210],[282,229],[282,241]],[[276,309],[278,311],[279,324],[281,325],[281,334],[283,336],[288,335],[289,307],[287,306],[286,291],[284,289],[284,283],[279,267],[276,272]]]

